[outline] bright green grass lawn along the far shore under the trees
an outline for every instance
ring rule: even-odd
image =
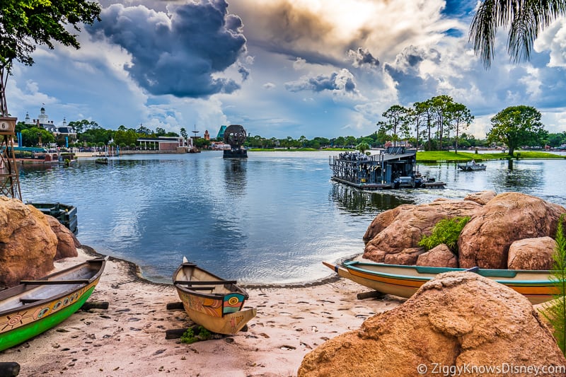
[[[526,159],[543,159],[543,158],[566,158],[566,156],[559,156],[554,153],[546,152],[533,152],[533,151],[519,151],[514,153],[513,158],[519,157],[521,160]],[[438,161],[487,161],[487,160],[506,160],[511,158],[509,154],[496,152],[496,153],[468,153],[468,152],[447,152],[447,151],[424,151],[417,152],[418,162],[438,162]]]

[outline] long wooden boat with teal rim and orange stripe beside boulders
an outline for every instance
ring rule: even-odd
[[[379,291],[409,298],[422,286],[434,279],[437,274],[451,271],[466,271],[463,268],[422,267],[405,265],[387,265],[385,263],[359,262],[352,260],[342,265],[323,262],[340,277],[345,277]],[[470,269],[468,269],[469,271]],[[555,283],[550,281],[550,271],[525,269],[473,269],[473,272],[509,286],[529,298],[533,304],[552,300],[557,293]]]

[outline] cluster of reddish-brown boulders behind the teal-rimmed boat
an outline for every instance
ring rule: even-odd
[[[364,234],[364,257],[397,265],[542,269],[552,265],[555,245],[548,238],[554,238],[565,213],[558,204],[519,192],[478,192],[463,200],[404,204],[371,222]],[[424,253],[418,245],[422,236],[429,236],[441,219],[456,216],[470,216],[458,239],[458,256],[446,247]],[[535,240],[523,241],[529,238]],[[522,243],[512,248],[518,241]]]

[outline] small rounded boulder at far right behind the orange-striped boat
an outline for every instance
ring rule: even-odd
[[[525,238],[509,246],[508,269],[551,269],[557,243],[553,238]]]

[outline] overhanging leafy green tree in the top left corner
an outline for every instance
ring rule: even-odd
[[[31,66],[36,45],[51,50],[53,42],[79,49],[72,25],[81,31],[81,23],[100,20],[98,1],[84,0],[6,0],[0,6],[0,115],[8,115],[6,83],[14,61]]]

